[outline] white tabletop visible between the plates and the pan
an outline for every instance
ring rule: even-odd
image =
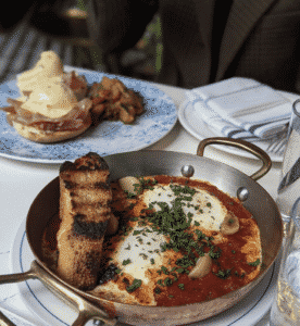
[[[168,95],[178,108],[185,99],[185,89],[153,84]],[[199,140],[189,135],[179,124],[150,150],[178,151],[196,154]],[[205,148],[204,156],[223,162],[247,175],[253,174],[262,163],[257,159],[246,159],[213,147]],[[59,175],[59,164],[37,164],[0,158],[0,275],[10,274],[10,255],[16,231],[26,218],[28,209],[38,192]],[[280,163],[273,163],[271,171],[258,183],[275,199],[279,179]],[[0,290],[0,311],[10,310],[34,322],[26,310],[15,285],[2,285]],[[257,325],[266,325],[266,317]],[[0,323],[1,324],[1,323]],[[23,324],[20,324],[23,325]]]

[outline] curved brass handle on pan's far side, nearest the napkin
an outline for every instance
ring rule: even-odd
[[[258,180],[261,177],[263,177],[270,171],[270,168],[272,166],[272,161],[266,152],[264,152],[258,146],[255,146],[251,142],[248,142],[246,140],[241,140],[241,139],[233,139],[233,138],[226,138],[226,137],[213,137],[213,138],[203,139],[198,145],[197,155],[203,156],[204,148],[207,146],[213,145],[213,143],[234,146],[239,149],[246,150],[247,152],[259,158],[263,162],[263,165],[258,172],[255,172],[254,174],[252,174],[250,176],[250,178],[252,178],[253,180]]]

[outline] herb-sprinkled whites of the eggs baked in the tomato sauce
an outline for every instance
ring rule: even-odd
[[[172,187],[176,184],[162,186],[154,185],[153,189],[147,189],[140,196],[143,203],[149,206],[152,204],[155,211],[161,208],[155,202],[167,203],[171,208],[177,196]],[[227,209],[222,202],[203,189],[193,188],[196,191],[186,195],[190,200],[184,201],[183,210],[188,216],[191,213],[191,226],[197,228],[218,231],[221,224],[227,213]],[[196,224],[195,224],[196,223]],[[127,236],[123,237],[117,243],[114,252],[110,255],[111,263],[116,265],[121,273],[130,275],[133,278],[141,279],[142,286],[155,287],[155,279],[149,277],[149,269],[161,269],[166,265],[166,261],[172,254],[172,250],[162,250],[162,246],[167,242],[166,236],[153,230],[150,225],[139,226],[135,224]],[[141,286],[141,287],[142,287]],[[92,293],[101,292],[101,297],[113,299],[126,303],[139,303],[126,290],[121,290],[110,280],[97,287]],[[157,305],[153,292],[148,293],[148,301]]]

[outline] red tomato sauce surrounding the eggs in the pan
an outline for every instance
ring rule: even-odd
[[[170,286],[160,287],[160,291],[154,294],[159,306],[174,306],[212,300],[249,284],[259,275],[261,262],[254,263],[258,256],[261,259],[259,227],[251,213],[242,206],[238,199],[201,180],[171,176],[155,176],[154,178],[160,185],[177,183],[183,186],[207,190],[216,197],[229,212],[238,217],[240,225],[238,233],[230,236],[223,235],[223,241],[217,242],[216,246],[221,249],[222,254],[218,259],[212,260],[212,271],[208,275],[200,279],[191,279],[187,274],[183,273],[178,275],[178,281]],[[112,209],[115,215],[120,217],[120,225],[122,227],[122,223],[126,224],[130,216],[140,216],[143,206],[138,205],[135,199],[127,199],[117,181],[112,183],[111,186],[113,192]],[[136,204],[136,206],[132,210],[130,205],[133,203]],[[45,243],[49,252],[57,250],[55,236],[59,227],[60,220],[59,216],[55,215],[45,231]],[[218,234],[218,231],[205,230],[205,235],[209,237],[216,237]],[[113,250],[116,239],[117,236],[108,238],[107,244],[104,244],[103,248],[110,247],[110,249]],[[208,251],[208,249],[205,249],[205,251]],[[109,264],[109,260],[107,260],[108,256],[105,255],[107,253],[104,253],[103,259]],[[176,255],[175,252],[174,255]],[[251,263],[249,264],[249,262]],[[192,267],[188,268],[191,269]],[[220,276],[220,271],[225,273],[224,277]],[[150,272],[154,276],[159,276],[157,271]],[[122,284],[120,276],[116,277],[114,281]],[[180,287],[178,287],[178,284],[180,284]],[[139,291],[136,291],[132,294],[138,296],[138,293]]]

